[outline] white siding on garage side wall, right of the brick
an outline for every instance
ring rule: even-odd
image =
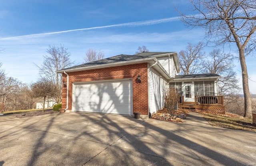
[[[167,88],[167,81],[152,68],[150,68],[149,78],[149,110],[152,114],[164,108],[164,91]]]

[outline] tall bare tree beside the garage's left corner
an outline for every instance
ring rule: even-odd
[[[44,61],[41,66],[35,64],[39,69],[42,78],[47,78],[56,84],[58,94],[55,97],[56,102],[61,102],[62,94],[62,74],[56,73],[57,70],[70,67],[74,62],[70,59],[70,52],[60,44],[60,47],[50,46],[46,51],[48,55],[44,55]]]

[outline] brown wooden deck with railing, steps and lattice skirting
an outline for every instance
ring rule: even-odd
[[[184,102],[184,96],[180,96],[178,108],[196,112],[225,114],[224,96],[194,96],[194,99],[194,102]]]

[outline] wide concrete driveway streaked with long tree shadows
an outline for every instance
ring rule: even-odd
[[[0,116],[0,166],[256,166],[256,133],[185,123],[64,113]]]

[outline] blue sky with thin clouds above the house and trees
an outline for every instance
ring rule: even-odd
[[[138,46],[152,52],[179,52],[188,42],[203,40],[199,28],[190,30],[173,6],[188,8],[187,0],[0,0],[0,53],[8,76],[36,82],[48,45],[64,45],[81,64],[86,50],[101,49],[105,57],[134,54]],[[206,48],[206,53],[213,48]],[[225,47],[237,55],[236,47]],[[248,73],[256,81],[255,57],[247,57]],[[234,70],[241,82],[240,62]],[[256,83],[249,81],[256,94]]]

